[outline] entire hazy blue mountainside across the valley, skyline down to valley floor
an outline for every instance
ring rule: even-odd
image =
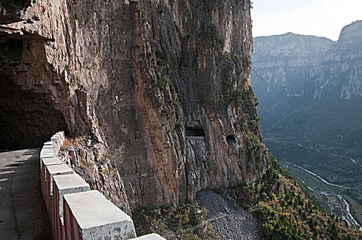
[[[309,180],[307,187],[338,193],[298,167],[356,189],[344,193],[357,202],[362,197],[361,36],[362,21],[355,21],[343,27],[337,42],[291,33],[254,38],[251,73],[269,150]],[[355,216],[361,221],[362,213]]]

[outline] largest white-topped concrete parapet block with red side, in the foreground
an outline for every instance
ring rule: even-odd
[[[132,239],[133,221],[99,193],[64,195],[64,229],[68,239]]]

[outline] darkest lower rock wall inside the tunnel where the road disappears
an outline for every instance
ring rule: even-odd
[[[47,95],[22,91],[11,76],[1,75],[0,95],[2,148],[38,147],[53,132],[65,128],[64,117],[49,106]]]

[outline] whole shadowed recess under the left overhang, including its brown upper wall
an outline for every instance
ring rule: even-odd
[[[62,97],[64,84],[45,62],[43,40],[10,34],[0,38],[1,148],[38,147],[66,128],[56,99]]]

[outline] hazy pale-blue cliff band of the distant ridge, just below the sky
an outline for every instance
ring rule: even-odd
[[[362,97],[362,21],[343,27],[339,40],[282,34],[254,38],[256,92],[285,96]]]

